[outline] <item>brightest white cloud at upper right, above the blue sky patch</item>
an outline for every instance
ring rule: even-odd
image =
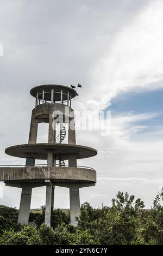
[[[92,70],[86,108],[104,109],[121,91],[162,87],[163,83],[156,85],[163,81],[162,12],[162,1],[149,2],[108,39],[108,49]]]

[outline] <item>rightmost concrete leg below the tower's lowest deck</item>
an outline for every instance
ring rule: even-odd
[[[70,185],[70,224],[77,226],[75,217],[80,216],[79,184]]]

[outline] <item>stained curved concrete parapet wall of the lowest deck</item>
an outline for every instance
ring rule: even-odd
[[[51,179],[54,182],[96,182],[96,171],[73,166],[26,166],[24,168],[0,168],[0,181]]]

